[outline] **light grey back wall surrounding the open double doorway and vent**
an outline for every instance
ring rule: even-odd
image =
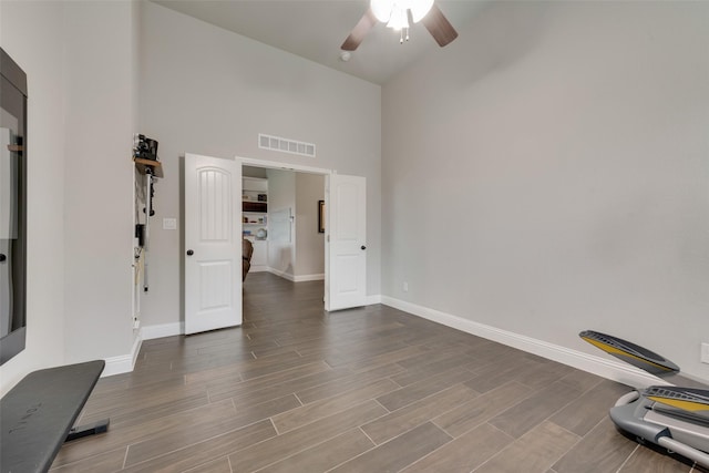
[[[380,88],[142,2],[141,132],[160,142],[156,222],[179,215],[185,152],[335,168],[368,181],[368,294],[380,292]],[[315,143],[317,157],[258,148],[258,133]],[[155,227],[158,227],[156,225]],[[151,235],[144,323],[179,321],[179,233]]]

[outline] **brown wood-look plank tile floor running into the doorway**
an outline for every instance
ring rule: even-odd
[[[52,471],[707,473],[616,431],[627,387],[322,290],[249,274],[242,327],[145,341]]]

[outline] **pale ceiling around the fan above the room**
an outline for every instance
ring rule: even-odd
[[[369,0],[152,0],[256,41],[383,84],[418,56],[439,45],[423,24],[412,25],[410,40],[379,23],[348,62],[340,44],[369,7]],[[459,31],[484,0],[436,0]],[[455,41],[460,41],[459,37]]]

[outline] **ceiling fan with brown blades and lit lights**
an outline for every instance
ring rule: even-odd
[[[371,0],[371,3],[340,49],[354,51],[378,21],[401,31],[400,42],[409,40],[409,14],[423,25],[441,48],[458,38],[458,32],[433,0]]]

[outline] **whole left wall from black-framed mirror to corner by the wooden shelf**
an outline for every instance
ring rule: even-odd
[[[65,362],[130,367],[136,22],[134,2],[0,2],[30,96],[27,349],[2,393]]]

